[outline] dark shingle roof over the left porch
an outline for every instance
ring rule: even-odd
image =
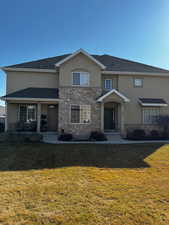
[[[8,94],[4,97],[10,98],[50,98],[56,99],[59,97],[57,88],[26,88],[11,94]]]

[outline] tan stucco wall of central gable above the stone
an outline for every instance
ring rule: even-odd
[[[60,66],[59,83],[60,86],[72,86],[72,72],[86,71],[90,74],[90,87],[101,86],[101,69],[87,56],[78,54]]]

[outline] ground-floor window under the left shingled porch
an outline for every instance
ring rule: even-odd
[[[20,105],[19,120],[22,122],[36,121],[36,105]]]

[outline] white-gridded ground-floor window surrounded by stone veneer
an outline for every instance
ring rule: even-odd
[[[90,105],[72,105],[71,123],[90,123]]]

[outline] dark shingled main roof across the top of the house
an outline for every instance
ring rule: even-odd
[[[84,50],[79,50],[83,51]],[[75,52],[74,54],[77,54]],[[65,54],[60,56],[55,56],[51,58],[40,59],[31,62],[25,62],[21,64],[15,64],[11,66],[3,67],[3,69],[7,68],[20,68],[20,69],[50,69],[55,70],[56,65],[60,65],[64,61],[73,57],[74,54]],[[143,63],[134,62],[131,60],[126,60],[118,57],[114,57],[111,55],[89,55],[85,52],[92,60],[97,62],[100,65],[105,67],[106,71],[113,71],[113,72],[137,72],[137,73],[163,73],[169,74],[169,70],[146,65]]]

